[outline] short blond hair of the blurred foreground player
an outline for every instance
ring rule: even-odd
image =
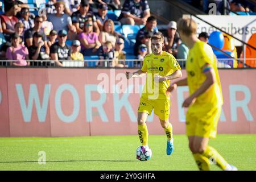
[[[191,18],[180,18],[177,22],[177,30],[182,31],[186,36],[196,34],[197,23]]]

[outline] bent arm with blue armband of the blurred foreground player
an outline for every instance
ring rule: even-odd
[[[216,76],[213,68],[210,66],[210,64],[205,64],[202,68],[202,71],[204,72],[206,79],[203,82],[203,84],[200,86],[199,89],[197,89],[191,96],[189,96],[182,104],[183,107],[188,107],[189,105],[193,104],[193,102],[196,101],[196,98],[199,97],[201,94],[206,92],[210,86],[216,82]]]

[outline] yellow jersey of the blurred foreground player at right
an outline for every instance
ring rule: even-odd
[[[210,88],[197,97],[196,102],[191,105],[194,109],[209,110],[220,107],[223,104],[220,77],[218,76],[217,59],[212,48],[204,42],[196,42],[189,50],[186,62],[187,82],[189,95],[194,93],[206,79],[202,70],[205,64],[210,64],[216,75],[216,82]],[[192,109],[192,108],[191,108]]]

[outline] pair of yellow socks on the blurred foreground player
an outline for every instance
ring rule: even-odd
[[[209,171],[210,164],[217,164],[222,170],[229,167],[229,164],[218,152],[210,146],[207,146],[203,154],[193,154],[196,164],[200,170]]]

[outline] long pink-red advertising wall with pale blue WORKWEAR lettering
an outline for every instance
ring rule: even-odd
[[[127,81],[126,71],[0,68],[0,137],[137,134],[139,93],[145,78]],[[255,70],[219,72],[224,106],[218,133],[255,134]],[[172,94],[170,121],[175,134],[185,133],[181,104],[187,96],[187,86]],[[148,130],[150,134],[164,134],[154,114],[148,118]]]

